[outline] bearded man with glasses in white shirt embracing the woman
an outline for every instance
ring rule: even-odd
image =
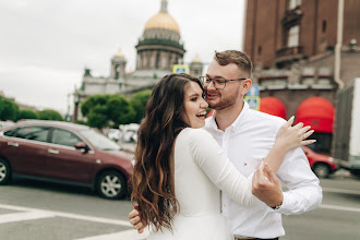
[[[228,50],[215,52],[202,77],[208,106],[215,109],[204,129],[245,177],[256,170],[285,123],[284,119],[251,110],[243,100],[252,84],[251,71],[247,55]],[[287,154],[277,178],[266,170],[255,171],[253,194],[259,200],[250,207],[223,194],[223,214],[229,219],[235,239],[277,239],[285,235],[280,214],[300,214],[320,205],[322,189],[301,148]],[[280,184],[288,191],[283,192]]]

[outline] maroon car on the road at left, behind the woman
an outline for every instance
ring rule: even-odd
[[[125,196],[132,155],[81,124],[27,120],[0,131],[0,184],[21,176],[86,185],[106,199]]]

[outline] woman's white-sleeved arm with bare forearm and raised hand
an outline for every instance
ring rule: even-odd
[[[273,149],[264,159],[274,172],[281,165],[289,149],[313,142],[303,141],[303,134],[305,134],[305,137],[311,135],[311,132],[307,133],[309,128],[302,128],[302,124],[292,128],[292,121],[293,119],[290,119],[281,127]],[[245,178],[230,163],[221,147],[208,132],[201,129],[192,130],[189,142],[194,161],[211,181],[236,202],[242,205],[251,205],[253,202],[252,175]]]

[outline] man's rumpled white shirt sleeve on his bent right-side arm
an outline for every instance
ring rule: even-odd
[[[277,176],[288,188],[288,191],[284,192],[283,205],[277,213],[301,214],[321,204],[323,194],[319,179],[312,172],[300,147],[286,155]]]

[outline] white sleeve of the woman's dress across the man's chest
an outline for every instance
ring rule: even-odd
[[[190,146],[196,165],[211,181],[239,204],[249,206],[253,203],[252,176],[245,178],[225,156],[214,137],[204,130],[193,131]]]

